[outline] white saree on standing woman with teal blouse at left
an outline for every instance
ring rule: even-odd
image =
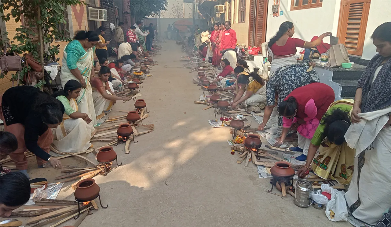
[[[71,79],[74,79],[76,81],[79,81],[68,69],[68,65],[66,63],[66,46],[64,48],[64,56],[62,61],[62,67],[61,67],[61,85],[64,87],[66,82],[68,82]],[[79,58],[77,61],[77,69],[80,70],[81,75],[84,78],[84,81],[87,84],[86,88],[82,88],[80,92],[80,96],[77,98],[77,105],[79,106],[81,113],[86,113],[91,118],[91,125],[97,124],[97,118],[95,114],[95,108],[94,103],[92,100],[92,88],[90,83],[90,76],[91,76],[91,69],[93,67],[93,58],[94,53],[93,49],[89,48],[86,53]]]

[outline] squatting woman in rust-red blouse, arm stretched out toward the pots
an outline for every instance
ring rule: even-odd
[[[109,67],[102,66],[100,68],[98,77],[95,77],[94,81],[91,81],[92,86],[92,98],[94,100],[95,113],[97,119],[104,116],[104,111],[108,111],[117,102],[117,100],[129,101],[131,97],[119,97],[113,92],[113,87],[109,83],[110,77]]]

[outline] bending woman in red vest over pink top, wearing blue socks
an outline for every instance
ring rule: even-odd
[[[293,90],[278,106],[278,113],[283,116],[283,130],[274,146],[280,147],[289,130],[296,129],[299,146],[289,150],[303,151],[296,159],[307,160],[311,139],[323,114],[334,99],[333,89],[323,83],[312,83]]]

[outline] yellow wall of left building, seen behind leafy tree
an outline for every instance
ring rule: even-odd
[[[83,9],[81,10],[80,7],[83,7]],[[77,32],[79,30],[88,30],[88,23],[87,23],[88,18],[87,18],[86,5],[72,6],[71,10],[72,10],[72,21],[70,21],[70,23],[72,23],[72,25],[73,25],[74,32]],[[9,9],[8,11],[5,11],[4,14],[7,14],[8,12],[11,12],[11,9]],[[18,23],[16,23],[14,19],[11,19],[5,23],[5,27],[8,32],[8,39],[10,41],[14,41],[15,44],[18,43],[16,40],[13,40],[13,38],[16,34],[15,29],[20,27],[21,25],[22,25],[22,23],[20,21]],[[71,34],[71,38],[73,38],[73,34]],[[60,52],[57,55],[57,58],[60,58],[58,63],[61,65],[61,61],[63,59],[64,48],[65,48],[67,42],[64,42],[64,41],[53,42],[51,45],[56,46],[58,44],[60,44],[60,46],[59,46]],[[3,94],[5,92],[5,90],[7,90],[8,88],[10,88],[12,86],[12,82],[10,81],[12,73],[15,73],[15,72],[8,72],[7,75],[5,75],[5,77],[3,79],[0,79],[0,94]],[[16,82],[14,84],[16,84]]]

